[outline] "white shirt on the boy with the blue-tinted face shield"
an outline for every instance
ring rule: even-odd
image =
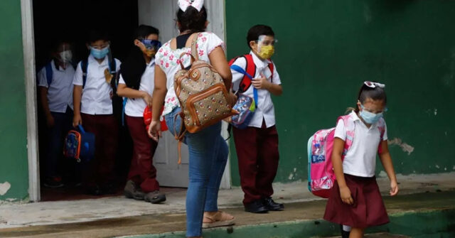
[[[155,80],[155,59],[151,59],[150,63],[147,64],[144,73],[141,76],[141,84],[139,85],[139,91],[144,91],[150,96],[154,92],[154,80]],[[119,84],[126,85],[122,75],[120,75]],[[129,117],[144,117],[144,109],[147,106],[146,102],[142,98],[129,98],[125,105],[125,114]]]

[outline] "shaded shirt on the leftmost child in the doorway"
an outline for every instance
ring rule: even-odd
[[[48,103],[50,112],[65,113],[69,106],[73,109],[73,77],[75,70],[68,64],[65,69],[55,67],[55,61],[50,61],[52,67],[52,81],[48,85],[45,67],[38,72],[38,86],[48,89]]]

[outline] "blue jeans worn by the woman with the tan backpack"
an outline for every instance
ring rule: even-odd
[[[181,112],[176,107],[166,114],[166,124],[174,134],[181,131]],[[200,237],[203,213],[218,211],[218,190],[228,161],[228,144],[221,136],[221,121],[197,133],[186,133],[189,151],[189,184],[186,193],[186,236]]]

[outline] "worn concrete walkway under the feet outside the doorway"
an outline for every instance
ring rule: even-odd
[[[398,180],[400,196],[385,197],[390,214],[455,206],[455,173],[398,176]],[[388,180],[379,178],[378,183],[387,195]],[[284,212],[243,212],[239,188],[220,191],[220,209],[235,215],[236,226],[321,219],[326,201],[311,195],[306,183],[276,184],[274,188],[274,198],[286,204]],[[118,237],[183,231],[185,195],[185,191],[168,193],[168,200],[162,205],[122,197],[4,203],[0,205],[0,237]]]

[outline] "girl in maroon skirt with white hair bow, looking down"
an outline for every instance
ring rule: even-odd
[[[375,178],[377,153],[390,178],[390,195],[398,193],[382,118],[387,104],[384,88],[378,82],[364,82],[355,109],[336,125],[332,153],[336,183],[324,219],[352,227],[350,234],[343,232],[343,237],[363,237],[365,228],[389,222]],[[352,145],[346,151],[347,143]]]

